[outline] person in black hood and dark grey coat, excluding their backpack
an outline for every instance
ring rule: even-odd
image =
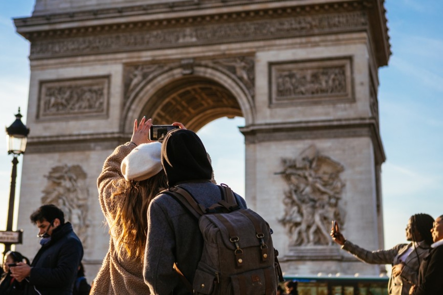
[[[193,131],[169,132],[162,143],[161,161],[168,187],[179,184],[205,207],[222,199],[219,187],[211,182],[213,171],[206,149]],[[239,206],[246,208],[245,200],[235,197]],[[144,281],[151,294],[190,294],[173,265],[192,282],[202,251],[203,237],[196,218],[170,195],[157,195],[148,207],[144,255]]]

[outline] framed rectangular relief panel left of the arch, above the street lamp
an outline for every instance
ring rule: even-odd
[[[109,77],[40,82],[37,119],[107,115]]]

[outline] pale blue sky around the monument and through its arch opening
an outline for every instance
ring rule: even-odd
[[[19,106],[26,121],[29,43],[15,33],[11,19],[31,15],[33,5],[34,0],[0,1],[2,126],[14,121]],[[379,71],[378,99],[387,156],[382,166],[382,191],[388,248],[405,241],[409,216],[423,212],[435,218],[443,214],[443,1],[386,0],[385,7],[393,54],[389,66]],[[219,119],[199,132],[213,157],[216,179],[240,194],[244,194],[245,155],[237,126],[243,124],[242,118]],[[229,150],[223,144],[226,141],[232,143]],[[12,160],[6,141],[0,145],[2,150],[0,229],[6,227]],[[18,167],[20,173],[21,163]]]

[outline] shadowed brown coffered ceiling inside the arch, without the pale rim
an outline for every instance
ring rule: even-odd
[[[240,105],[227,88],[206,77],[181,78],[148,98],[141,115],[156,125],[181,122],[194,131],[221,118],[242,117]]]

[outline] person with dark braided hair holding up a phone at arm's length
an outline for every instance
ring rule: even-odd
[[[409,218],[406,239],[409,244],[398,244],[389,250],[368,251],[346,240],[340,230],[331,229],[332,240],[342,249],[369,264],[392,264],[388,293],[408,295],[411,287],[418,283],[420,263],[429,254],[432,244],[434,218],[427,214],[416,214]]]

